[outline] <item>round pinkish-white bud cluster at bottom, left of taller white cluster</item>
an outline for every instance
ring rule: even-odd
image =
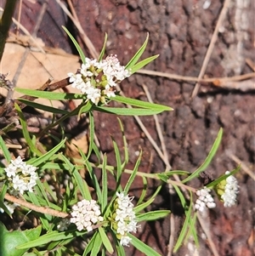
[[[89,232],[93,230],[92,225],[104,220],[100,215],[99,205],[94,200],[83,199],[72,207],[70,222],[77,225],[77,230]]]

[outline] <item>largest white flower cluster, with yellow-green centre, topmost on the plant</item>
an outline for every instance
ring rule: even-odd
[[[77,74],[67,75],[70,77],[71,86],[81,90],[95,105],[98,105],[99,101],[105,103],[105,96],[115,97],[116,84],[131,75],[130,71],[120,65],[116,55],[101,61],[88,58],[85,61]]]

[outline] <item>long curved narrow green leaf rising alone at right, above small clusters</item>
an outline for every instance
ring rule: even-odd
[[[223,135],[223,129],[220,128],[219,131],[218,131],[218,136],[217,138],[215,139],[213,145],[212,145],[212,148],[211,148],[211,151],[209,152],[205,162],[203,162],[201,164],[201,167],[200,168],[197,168],[195,170],[195,172],[193,174],[191,174],[188,178],[184,179],[182,182],[183,183],[186,183],[188,181],[190,181],[191,179],[194,179],[195,177],[198,177],[199,174],[207,168],[207,166],[210,164],[210,162],[212,162],[212,158],[213,156],[215,156],[216,152],[218,151],[218,146],[220,145],[220,142],[221,142],[221,139],[222,139],[222,135]]]

